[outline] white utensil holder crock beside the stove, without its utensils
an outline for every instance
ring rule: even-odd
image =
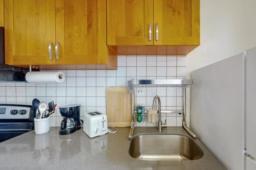
[[[35,134],[44,134],[50,131],[50,117],[34,118]]]

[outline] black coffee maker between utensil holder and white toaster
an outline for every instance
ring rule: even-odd
[[[60,135],[68,135],[81,129],[80,106],[81,105],[65,105],[59,107],[59,112],[61,116],[63,116],[59,129]]]

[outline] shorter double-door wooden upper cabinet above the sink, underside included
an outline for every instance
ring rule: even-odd
[[[118,55],[184,56],[200,45],[200,0],[106,1],[107,44]]]

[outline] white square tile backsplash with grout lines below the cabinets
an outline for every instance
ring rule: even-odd
[[[61,70],[63,83],[0,83],[1,104],[28,104],[34,98],[58,105],[79,104],[84,112],[106,113],[106,88],[125,86],[127,80],[176,79],[186,77],[186,57],[180,56],[118,56],[117,70]],[[47,70],[48,71],[48,70]],[[182,109],[182,88],[136,88],[137,105],[152,108],[155,95],[161,98],[162,109]],[[182,126],[182,115],[168,114],[168,126]],[[163,116],[163,121],[165,116]],[[51,126],[60,126],[62,117],[57,111],[51,116]],[[154,124],[155,125],[155,124]],[[154,126],[153,125],[153,126]]]

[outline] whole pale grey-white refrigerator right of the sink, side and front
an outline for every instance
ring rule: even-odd
[[[191,129],[228,170],[256,170],[256,47],[191,79]]]

